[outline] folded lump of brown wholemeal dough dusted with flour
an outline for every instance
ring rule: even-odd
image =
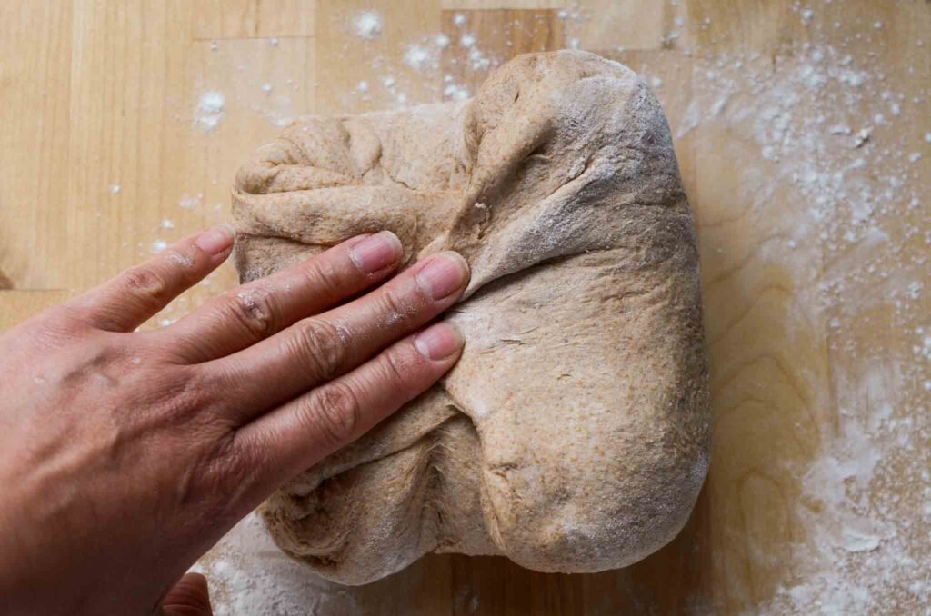
[[[236,177],[236,266],[271,274],[390,229],[472,278],[455,368],[263,505],[277,544],[358,584],[428,552],[624,567],[708,470],[695,230],[659,103],[626,67],[519,56],[475,99],[309,117]]]

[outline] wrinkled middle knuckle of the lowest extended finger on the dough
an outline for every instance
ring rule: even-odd
[[[361,422],[358,395],[341,382],[328,383],[307,395],[299,414],[307,430],[334,448],[351,440]]]

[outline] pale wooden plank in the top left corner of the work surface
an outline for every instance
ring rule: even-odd
[[[0,272],[64,287],[72,54],[70,3],[0,3]]]

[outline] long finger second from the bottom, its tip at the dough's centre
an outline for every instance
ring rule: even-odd
[[[356,368],[388,344],[423,327],[462,296],[468,265],[441,252],[384,286],[204,368],[236,391],[230,419],[248,422],[308,389]],[[274,387],[269,387],[274,383]]]

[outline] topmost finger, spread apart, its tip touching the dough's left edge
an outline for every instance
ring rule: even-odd
[[[233,248],[234,235],[233,227],[223,224],[185,237],[66,307],[92,327],[132,331],[223,263]]]

